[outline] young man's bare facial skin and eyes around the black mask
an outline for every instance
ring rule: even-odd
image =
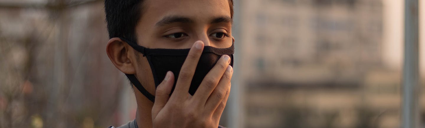
[[[138,44],[147,48],[186,49],[198,40],[205,46],[227,48],[232,45],[231,28],[228,0],[146,0],[136,36]],[[147,59],[135,56],[131,61],[137,78],[155,94]]]

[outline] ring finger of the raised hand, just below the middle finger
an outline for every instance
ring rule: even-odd
[[[220,103],[229,95],[229,85],[230,79],[232,78],[232,66],[229,66],[221,77],[220,82],[217,87],[214,89],[210,97],[208,97],[207,103],[205,103],[206,111],[215,111],[216,109],[220,109]]]

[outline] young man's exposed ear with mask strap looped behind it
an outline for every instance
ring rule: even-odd
[[[130,45],[117,37],[109,39],[108,45],[106,45],[106,53],[112,64],[125,74],[136,73],[135,64],[130,60],[131,55],[134,55],[130,53],[133,52],[130,48]]]

